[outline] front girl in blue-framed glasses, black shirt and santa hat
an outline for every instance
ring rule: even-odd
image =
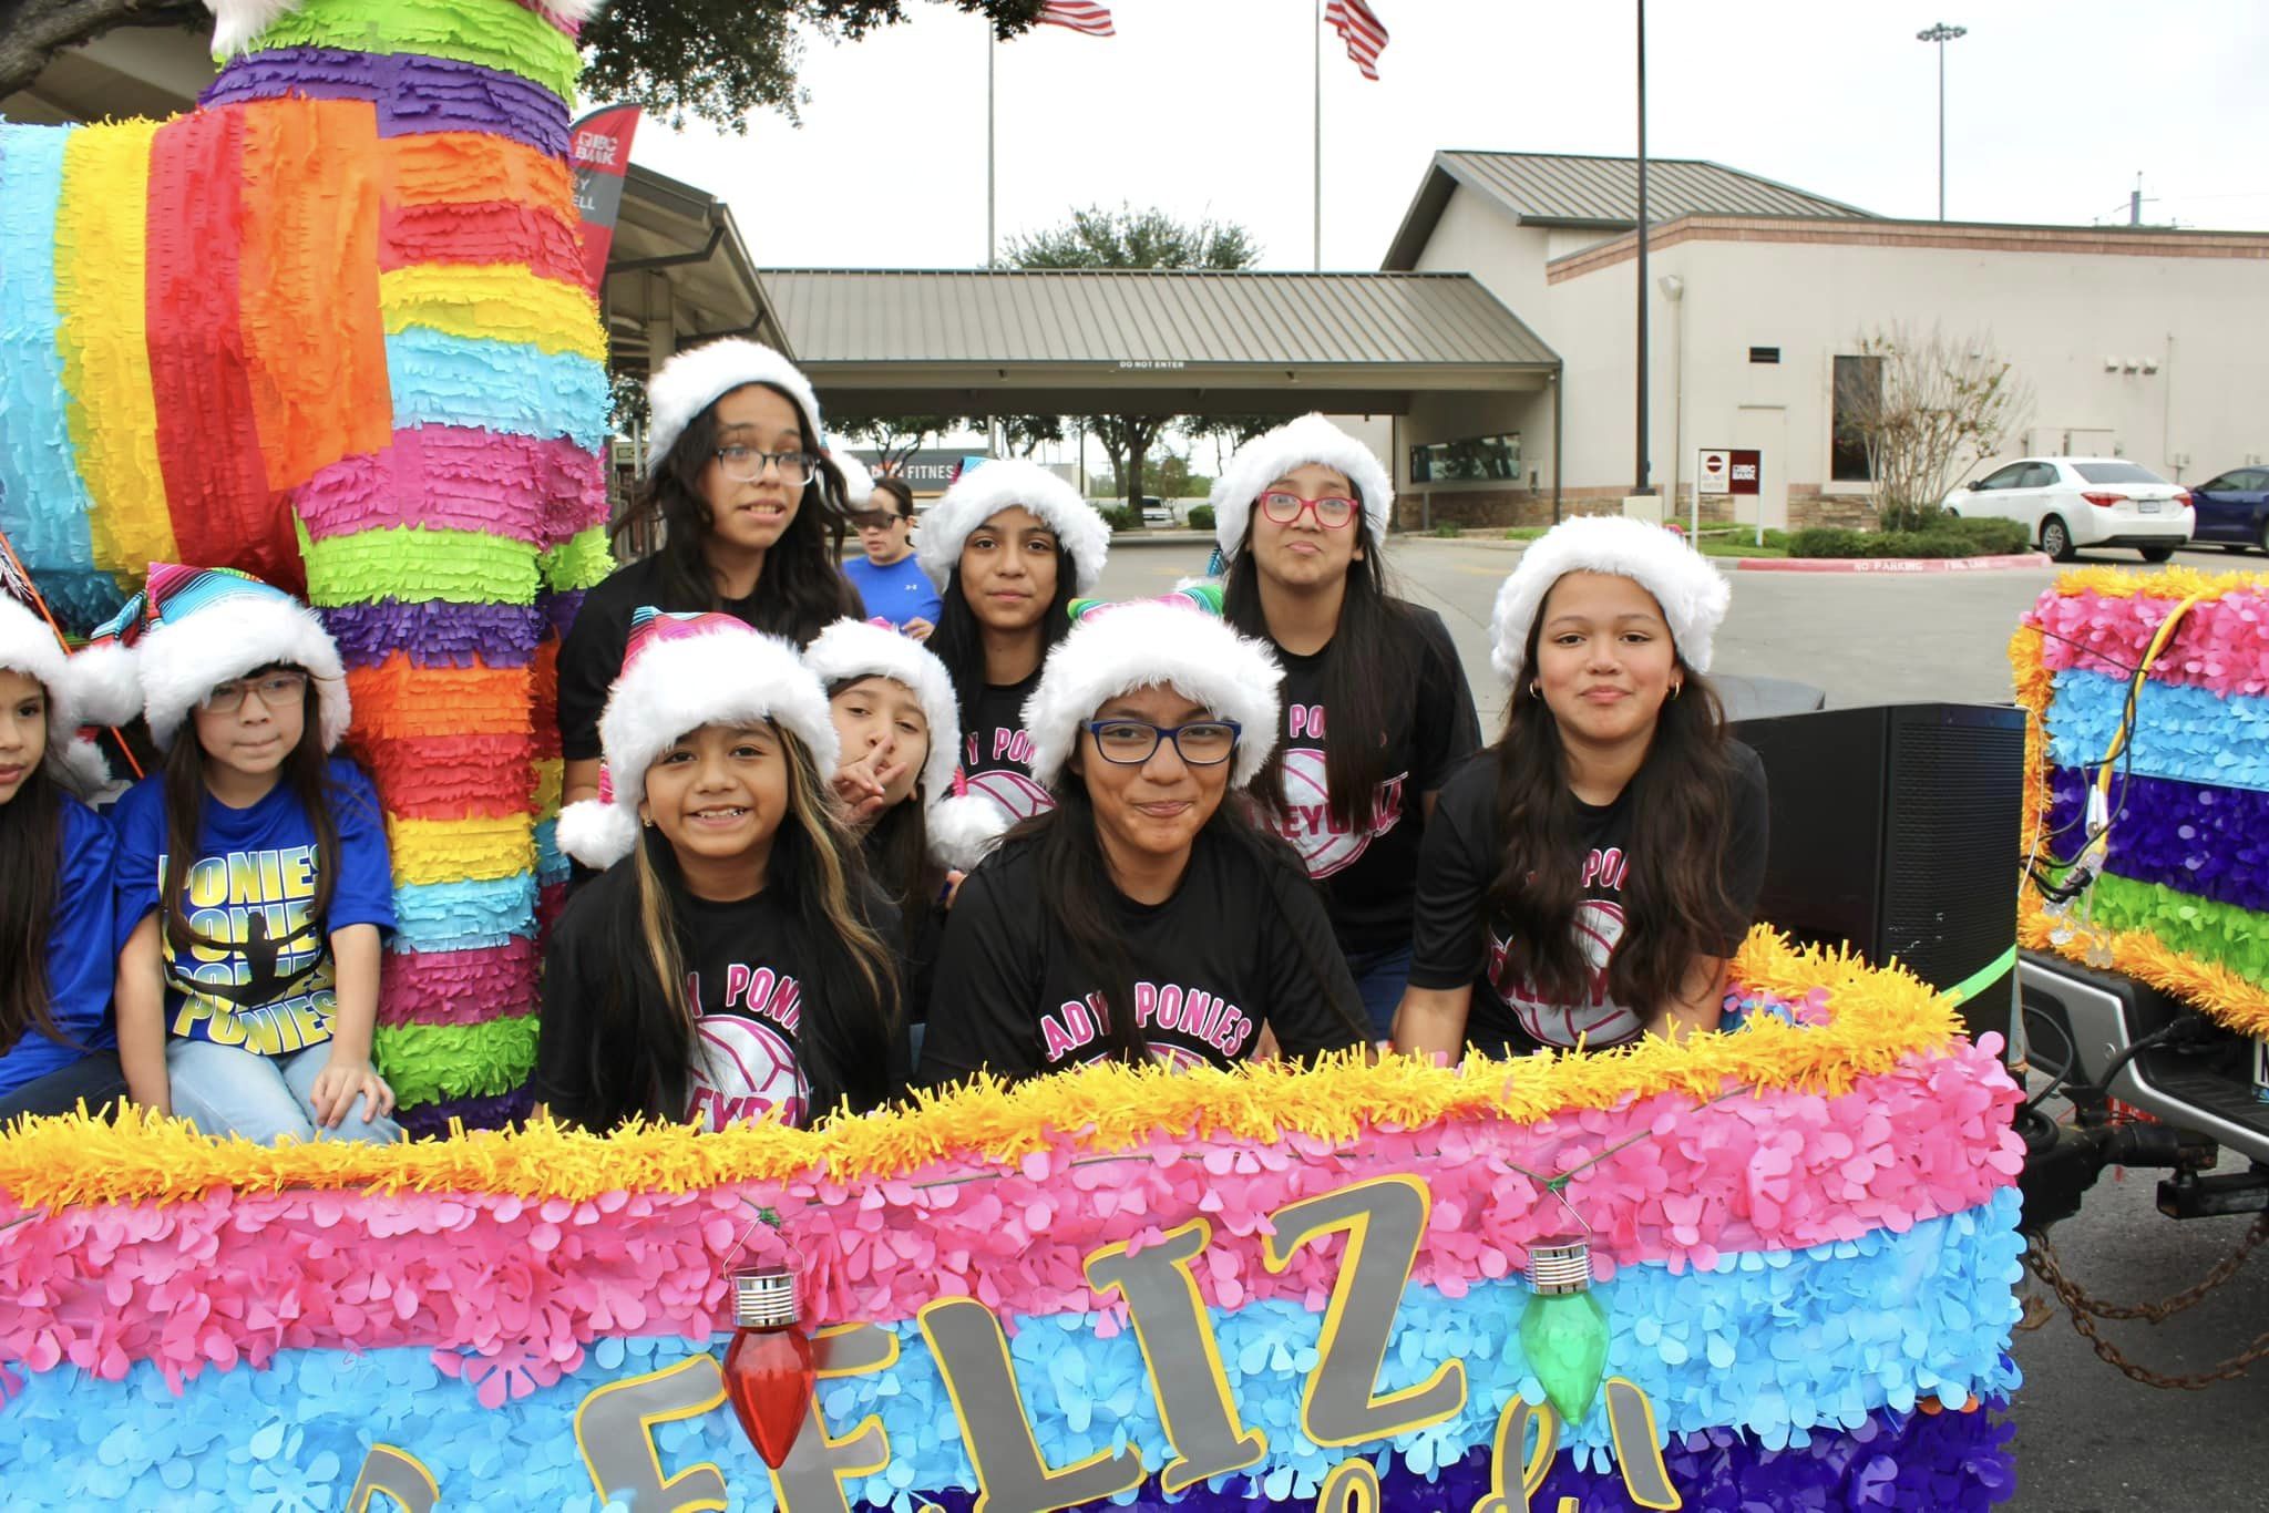
[[[1268,758],[1277,681],[1187,599],[1098,606],[1048,656],[1026,728],[1055,808],[962,882],[923,1082],[1232,1066],[1264,1030],[1296,1057],[1364,1041],[1298,857],[1223,803]]]

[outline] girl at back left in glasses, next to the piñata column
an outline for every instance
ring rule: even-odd
[[[647,402],[647,476],[613,538],[622,553],[658,531],[660,547],[585,592],[560,644],[565,803],[599,792],[599,710],[633,610],[717,610],[799,646],[864,612],[835,572],[844,479],[794,363],[737,336],[715,340],[663,363]]]

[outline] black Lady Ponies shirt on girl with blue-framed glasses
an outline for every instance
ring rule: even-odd
[[[1323,901],[1291,857],[1200,830],[1173,898],[1134,903],[1105,887],[1125,941],[1134,1021],[1169,1066],[1234,1066],[1275,1025],[1284,1055],[1364,1039],[1361,1000],[1332,941]],[[1103,984],[1041,905],[1037,846],[978,864],[946,923],[921,1046],[921,1082],[1082,1066],[1107,1055]]]

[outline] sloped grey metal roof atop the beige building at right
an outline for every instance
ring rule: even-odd
[[[1488,195],[1520,225],[1627,231],[1638,220],[1638,159],[1563,152],[1441,150],[1427,163],[1382,268],[1411,268],[1454,188]],[[1647,159],[1647,220],[1679,215],[1802,215],[1874,220],[1872,213],[1706,159]]]

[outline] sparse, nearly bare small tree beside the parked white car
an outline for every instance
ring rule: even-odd
[[[1836,365],[1836,440],[1865,447],[1886,531],[1935,515],[1960,472],[2001,451],[2033,413],[2031,386],[1990,333],[1876,327],[1858,336],[1858,356]]]

